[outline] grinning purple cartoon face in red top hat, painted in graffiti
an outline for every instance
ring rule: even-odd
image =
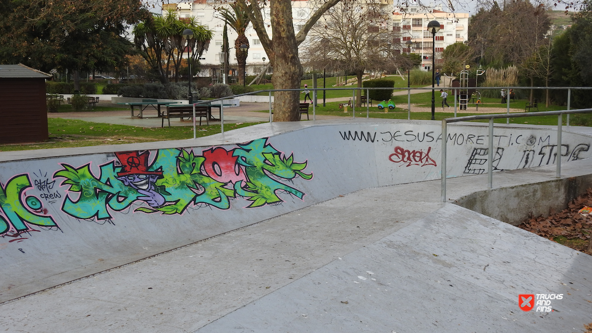
[[[152,207],[165,204],[165,197],[156,191],[155,186],[156,180],[162,177],[162,171],[148,170],[148,152],[118,152],[115,155],[121,162],[121,171],[117,172],[116,178],[144,195],[137,197],[138,200],[146,201]]]

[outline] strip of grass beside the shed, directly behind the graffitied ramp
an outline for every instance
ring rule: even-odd
[[[71,148],[121,143],[184,140],[193,137],[193,127],[136,127],[61,118],[47,119],[49,140],[43,143],[0,145],[0,151]],[[224,124],[224,130],[239,129],[258,123]],[[197,137],[220,133],[219,125],[198,126]]]

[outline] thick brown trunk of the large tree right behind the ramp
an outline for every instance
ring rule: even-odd
[[[304,72],[298,59],[298,44],[294,38],[292,4],[290,1],[271,1],[271,27],[274,53],[269,55],[275,89],[298,89]],[[274,121],[298,121],[299,91],[278,91],[274,95]]]

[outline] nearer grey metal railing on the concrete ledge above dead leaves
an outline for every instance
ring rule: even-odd
[[[561,149],[561,129],[563,125],[563,115],[572,113],[590,113],[592,108],[582,108],[578,110],[561,110],[561,111],[542,111],[536,113],[513,113],[513,114],[479,114],[477,116],[465,116],[442,119],[442,162],[440,163],[441,181],[440,190],[442,194],[442,202],[446,202],[446,142],[448,141],[448,123],[456,123],[458,121],[470,120],[489,120],[489,146],[487,149],[487,188],[493,187],[493,120],[500,118],[518,118],[518,117],[538,117],[538,116],[554,116],[558,115],[557,120],[557,146]],[[568,125],[569,126],[569,125]],[[561,151],[556,158],[556,177],[561,178]]]

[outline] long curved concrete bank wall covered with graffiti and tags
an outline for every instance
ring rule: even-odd
[[[363,188],[439,179],[441,140],[439,124],[362,119],[7,153],[0,302]],[[553,164],[554,141],[551,129],[496,128],[494,167]],[[591,142],[564,133],[562,162],[590,157]],[[449,176],[481,174],[487,128],[449,127],[448,156]]]

